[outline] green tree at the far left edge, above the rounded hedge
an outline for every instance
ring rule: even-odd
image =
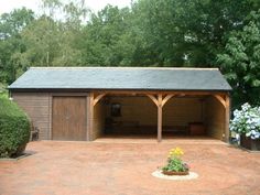
[[[20,55],[25,46],[20,33],[33,20],[33,11],[25,8],[0,17],[0,83],[10,84],[25,71]]]

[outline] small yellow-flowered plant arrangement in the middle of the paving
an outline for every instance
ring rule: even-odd
[[[184,152],[181,148],[170,150],[167,164],[162,167],[162,173],[165,175],[187,175],[189,167],[181,159],[183,154]]]

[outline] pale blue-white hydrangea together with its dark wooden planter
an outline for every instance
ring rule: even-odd
[[[230,131],[240,136],[240,145],[249,150],[260,150],[260,107],[248,102],[234,111]]]

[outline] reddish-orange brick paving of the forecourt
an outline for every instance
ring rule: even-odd
[[[171,148],[198,173],[193,181],[165,181],[151,173]],[[99,139],[31,142],[32,155],[0,161],[1,195],[259,195],[260,153],[221,141]]]

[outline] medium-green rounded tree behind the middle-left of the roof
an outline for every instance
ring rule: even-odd
[[[130,36],[130,10],[107,6],[93,13],[84,29],[84,62],[98,66],[131,65],[134,46]]]

